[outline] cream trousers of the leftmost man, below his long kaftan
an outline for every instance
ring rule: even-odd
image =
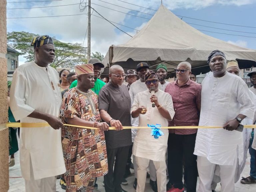
[[[57,176],[35,180],[30,160],[30,180],[25,180],[25,192],[56,192],[56,179]]]

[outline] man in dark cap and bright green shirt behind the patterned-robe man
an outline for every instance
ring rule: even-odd
[[[93,64],[93,72],[94,72],[94,79],[95,79],[95,85],[91,89],[93,92],[95,92],[97,95],[99,95],[99,92],[101,88],[106,84],[103,81],[99,79],[99,76],[101,74],[101,69],[104,68],[104,65],[101,63],[101,61],[97,58],[91,58],[88,62],[88,64]],[[73,87],[76,87],[77,80],[75,80],[71,85],[70,89]]]

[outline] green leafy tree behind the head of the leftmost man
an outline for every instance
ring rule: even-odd
[[[26,62],[34,60],[34,50],[30,46],[33,37],[39,36],[38,34],[29,32],[8,32],[7,42],[8,45],[14,49],[18,49],[21,55],[26,58]],[[55,46],[55,59],[52,67],[70,67],[74,68],[75,65],[87,63],[87,48],[83,47],[80,43],[64,43],[52,37]]]

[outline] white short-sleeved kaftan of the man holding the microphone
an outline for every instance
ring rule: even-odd
[[[159,90],[155,93],[158,102],[170,113],[171,118],[174,116],[172,97],[170,94]],[[139,115],[139,126],[145,127],[147,124],[160,124],[162,127],[168,126],[168,120],[165,119],[156,107],[152,107],[150,102],[151,94],[148,90],[136,95],[131,111],[136,110],[139,106],[147,107],[146,114]],[[165,153],[168,141],[168,129],[161,129],[164,135],[155,139],[151,135],[151,128],[138,129],[133,143],[132,153],[136,157],[143,157],[153,161],[165,161]]]

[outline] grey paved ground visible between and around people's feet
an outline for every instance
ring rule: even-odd
[[[15,162],[16,162],[16,164],[13,167],[9,168],[9,170],[10,170],[10,180],[9,180],[10,189],[8,192],[24,192],[25,184],[24,184],[24,179],[21,178],[19,153],[18,152],[15,154]],[[248,153],[247,162],[246,162],[244,171],[241,176],[247,177],[249,175],[249,172],[250,172],[250,155]],[[135,189],[133,188],[134,175],[132,174],[130,177],[127,178],[127,180],[128,180],[128,185],[125,185],[125,186],[122,185],[123,189],[128,192],[135,192]],[[94,192],[105,192],[104,187],[102,186],[102,181],[103,181],[103,177],[98,178],[98,181],[97,181],[98,189],[97,190],[95,189]],[[65,192],[65,190],[60,188],[59,182],[60,182],[60,180],[57,180],[57,182],[56,182],[57,191]],[[197,181],[197,187],[198,187],[198,183],[199,183],[199,178]],[[216,191],[220,192],[219,184],[217,185]],[[150,185],[149,185],[149,179],[147,179],[147,181],[146,181],[145,192],[153,192],[153,190],[151,190]],[[256,184],[244,185],[244,184],[240,183],[240,181],[238,181],[235,184],[235,192],[256,192]]]

